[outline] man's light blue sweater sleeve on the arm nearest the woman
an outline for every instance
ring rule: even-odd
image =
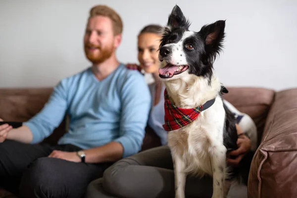
[[[151,105],[148,85],[139,72],[129,72],[121,100],[120,137],[114,141],[122,144],[123,157],[127,157],[141,150]]]

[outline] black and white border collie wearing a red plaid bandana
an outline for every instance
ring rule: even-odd
[[[159,47],[159,60],[166,63],[159,69],[159,77],[166,86],[163,127],[169,131],[175,197],[185,197],[186,176],[195,174],[212,176],[212,198],[224,198],[230,181],[241,178],[247,182],[253,153],[245,155],[238,168],[226,165],[227,152],[238,148],[236,119],[223,104],[222,93],[228,91],[213,70],[222,50],[225,21],[204,25],[199,32],[189,27],[175,5]]]

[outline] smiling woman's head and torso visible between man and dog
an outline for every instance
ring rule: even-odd
[[[160,45],[160,25],[148,25],[144,27],[138,35],[138,60],[140,65],[128,64],[128,67],[138,70],[144,70],[150,73],[154,83],[149,85],[152,97],[152,107],[148,118],[148,126],[160,137],[162,145],[167,143],[167,133],[162,125],[164,124],[164,89],[165,86],[159,78],[159,68],[162,63],[158,58],[158,49]]]

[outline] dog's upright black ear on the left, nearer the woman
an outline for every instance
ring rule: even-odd
[[[181,8],[178,5],[175,5],[168,17],[167,26],[172,29],[180,27],[188,30],[190,25],[191,23],[186,19]]]

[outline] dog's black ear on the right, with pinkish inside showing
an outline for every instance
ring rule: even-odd
[[[225,38],[225,20],[204,25],[198,34],[204,40],[205,51],[209,60],[213,62],[216,55],[219,55],[219,52],[223,47],[223,41]]]

